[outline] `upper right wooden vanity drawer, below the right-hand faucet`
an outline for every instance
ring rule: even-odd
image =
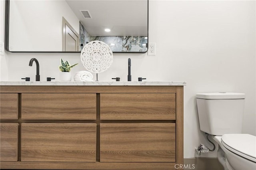
[[[175,93],[101,93],[102,120],[175,120]]]

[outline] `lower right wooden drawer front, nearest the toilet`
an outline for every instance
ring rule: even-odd
[[[100,162],[175,162],[175,123],[101,123]]]

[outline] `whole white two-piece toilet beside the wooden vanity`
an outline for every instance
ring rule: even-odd
[[[200,130],[219,144],[225,170],[256,170],[256,136],[242,133],[243,93],[198,93]]]

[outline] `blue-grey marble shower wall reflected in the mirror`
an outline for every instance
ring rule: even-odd
[[[148,39],[139,36],[90,36],[80,22],[80,50],[90,41],[98,40],[108,44],[115,52],[145,52]]]

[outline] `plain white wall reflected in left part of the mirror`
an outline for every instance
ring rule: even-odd
[[[10,51],[62,51],[62,17],[79,32],[64,0],[14,0],[10,11]]]

